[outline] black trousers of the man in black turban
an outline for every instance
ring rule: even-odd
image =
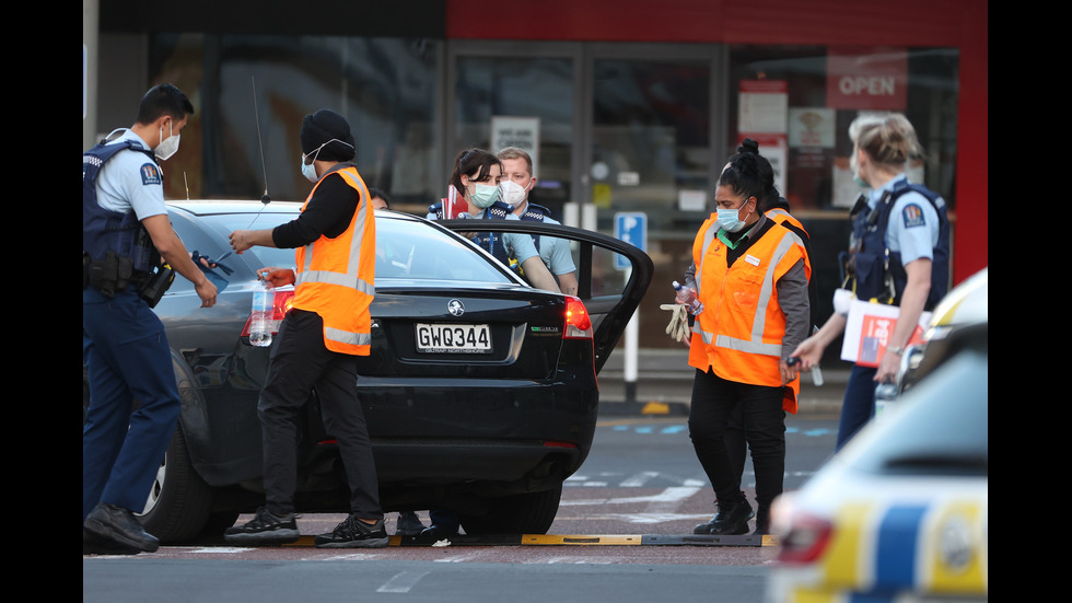
[[[361,519],[383,518],[372,440],[358,401],[357,366],[357,357],[324,347],[324,321],[315,312],[294,309],[283,318],[257,404],[266,505],[272,513],[294,511],[301,409],[315,389],[324,428],[339,443],[350,512]]]

